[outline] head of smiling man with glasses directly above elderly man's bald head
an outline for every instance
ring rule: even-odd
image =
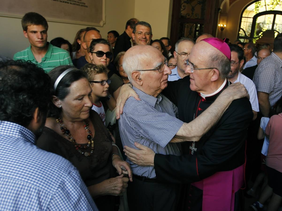
[[[139,21],[135,24],[132,31],[132,39],[136,45],[150,45],[152,37],[152,27],[149,23]]]

